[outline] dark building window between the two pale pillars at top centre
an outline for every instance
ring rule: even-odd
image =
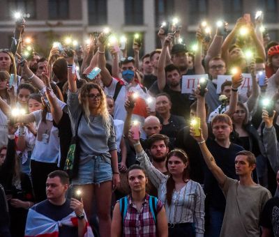
[[[144,24],[143,0],[125,0],[125,24],[140,25]]]

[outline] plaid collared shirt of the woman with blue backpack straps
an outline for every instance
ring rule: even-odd
[[[149,194],[146,194],[140,210],[133,203],[130,195],[128,196],[128,208],[123,222],[123,236],[125,237],[156,237],[156,223],[149,210]],[[158,200],[158,213],[163,207],[162,201]]]

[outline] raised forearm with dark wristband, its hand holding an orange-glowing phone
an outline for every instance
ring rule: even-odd
[[[233,116],[234,113],[236,112],[237,100],[239,97],[238,89],[239,86],[241,86],[242,81],[243,81],[242,75],[240,77],[238,76],[232,77],[232,93],[231,93],[231,98],[229,98],[229,109],[227,109],[227,111],[224,113],[230,117]]]

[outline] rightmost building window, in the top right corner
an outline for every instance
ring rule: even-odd
[[[278,22],[277,0],[258,0],[257,7],[264,13],[264,22]]]

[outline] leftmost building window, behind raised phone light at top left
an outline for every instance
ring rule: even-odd
[[[36,1],[35,0],[9,0],[8,1],[7,18],[10,13],[20,12],[24,18],[36,18]]]

